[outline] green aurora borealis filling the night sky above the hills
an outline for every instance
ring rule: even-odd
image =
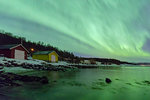
[[[78,55],[150,62],[149,0],[0,0],[0,29]]]

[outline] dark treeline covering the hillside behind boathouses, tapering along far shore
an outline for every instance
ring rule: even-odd
[[[22,42],[21,42],[22,41]],[[67,52],[67,51],[62,51],[58,49],[57,47],[53,47],[50,44],[45,44],[44,42],[31,42],[30,40],[26,40],[25,37],[19,37],[19,36],[14,36],[12,33],[9,32],[4,32],[0,30],[0,45],[5,45],[5,44],[20,44],[22,43],[23,46],[25,46],[30,53],[34,53],[36,51],[49,51],[49,50],[54,50],[58,53],[59,55],[59,60],[64,60],[68,61],[71,63],[81,63],[84,60],[89,60],[91,63],[95,64],[97,62],[101,62],[102,64],[105,65],[110,65],[110,64],[132,64],[134,65],[135,63],[129,63],[129,62],[124,62],[116,59],[108,59],[108,58],[83,58],[83,57],[77,57],[73,53]],[[31,51],[31,48],[34,48],[34,52]]]

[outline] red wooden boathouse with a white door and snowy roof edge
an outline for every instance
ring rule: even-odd
[[[29,51],[22,44],[0,45],[0,55],[13,59],[27,59]]]

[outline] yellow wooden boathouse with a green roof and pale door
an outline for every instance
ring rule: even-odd
[[[55,51],[38,51],[33,53],[33,59],[58,62],[58,54]]]

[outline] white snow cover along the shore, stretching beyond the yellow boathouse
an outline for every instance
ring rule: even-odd
[[[96,62],[97,63],[97,62]],[[52,66],[64,66],[64,67],[72,67],[72,66],[104,66],[102,64],[100,64],[99,62],[97,64],[72,64],[72,63],[67,63],[65,61],[59,61],[57,63],[50,63],[50,62],[46,62],[43,60],[35,60],[35,59],[28,59],[28,60],[17,60],[17,59],[10,59],[10,58],[4,58],[4,57],[0,57],[0,66],[7,66],[9,65],[9,67],[4,67],[4,71],[5,72],[24,72],[24,71],[31,71],[33,69],[25,69],[24,67],[22,68],[23,65],[27,65],[27,66],[35,66],[35,65],[39,65],[39,66],[45,66],[45,65],[52,65]],[[14,66],[14,67],[12,67]],[[21,67],[19,67],[21,66]],[[108,66],[108,65],[107,65]],[[110,65],[112,66],[112,65]],[[116,66],[116,65],[115,65]]]

